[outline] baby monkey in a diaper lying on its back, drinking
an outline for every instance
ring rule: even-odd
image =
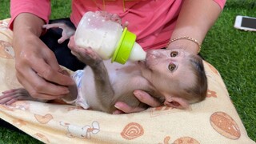
[[[61,27],[74,34],[63,24],[44,27],[47,26]],[[70,38],[70,35],[65,37]],[[112,114],[117,110],[116,102],[148,107],[134,97],[134,90],[144,90],[163,105],[178,109],[188,109],[191,103],[206,98],[207,78],[202,58],[185,50],[148,50],[145,61],[121,65],[102,60],[90,48],[75,46],[73,37],[69,47],[72,54],[87,66],[71,75],[76,85],[70,86],[70,94],[62,97],[66,103]],[[0,96],[0,104],[10,105],[18,100],[38,99],[22,88],[6,90]]]

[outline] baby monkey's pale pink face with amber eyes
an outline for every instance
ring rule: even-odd
[[[142,75],[165,97],[178,96],[195,82],[188,55],[184,50],[149,50],[146,61],[139,62]]]

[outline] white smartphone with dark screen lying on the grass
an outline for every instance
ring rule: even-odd
[[[234,27],[239,30],[256,31],[256,18],[238,15],[235,18]]]

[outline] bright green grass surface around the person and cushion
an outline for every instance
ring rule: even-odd
[[[0,19],[10,17],[9,0],[0,0]],[[70,15],[70,0],[52,1],[51,18]],[[234,29],[236,15],[256,17],[255,0],[227,0],[220,18],[202,45],[202,56],[215,66],[249,137],[256,141],[256,32]],[[15,140],[14,140],[15,138]],[[0,143],[38,143],[26,134],[0,126]]]

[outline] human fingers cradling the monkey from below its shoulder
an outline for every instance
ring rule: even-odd
[[[153,98],[150,94],[146,93],[143,90],[134,90],[134,96],[138,98],[140,102],[143,102],[151,107],[158,107],[162,104]],[[116,102],[114,105],[118,110],[115,110],[113,114],[123,114],[123,113],[136,113],[146,110],[142,107],[131,107],[128,106],[125,102]]]

